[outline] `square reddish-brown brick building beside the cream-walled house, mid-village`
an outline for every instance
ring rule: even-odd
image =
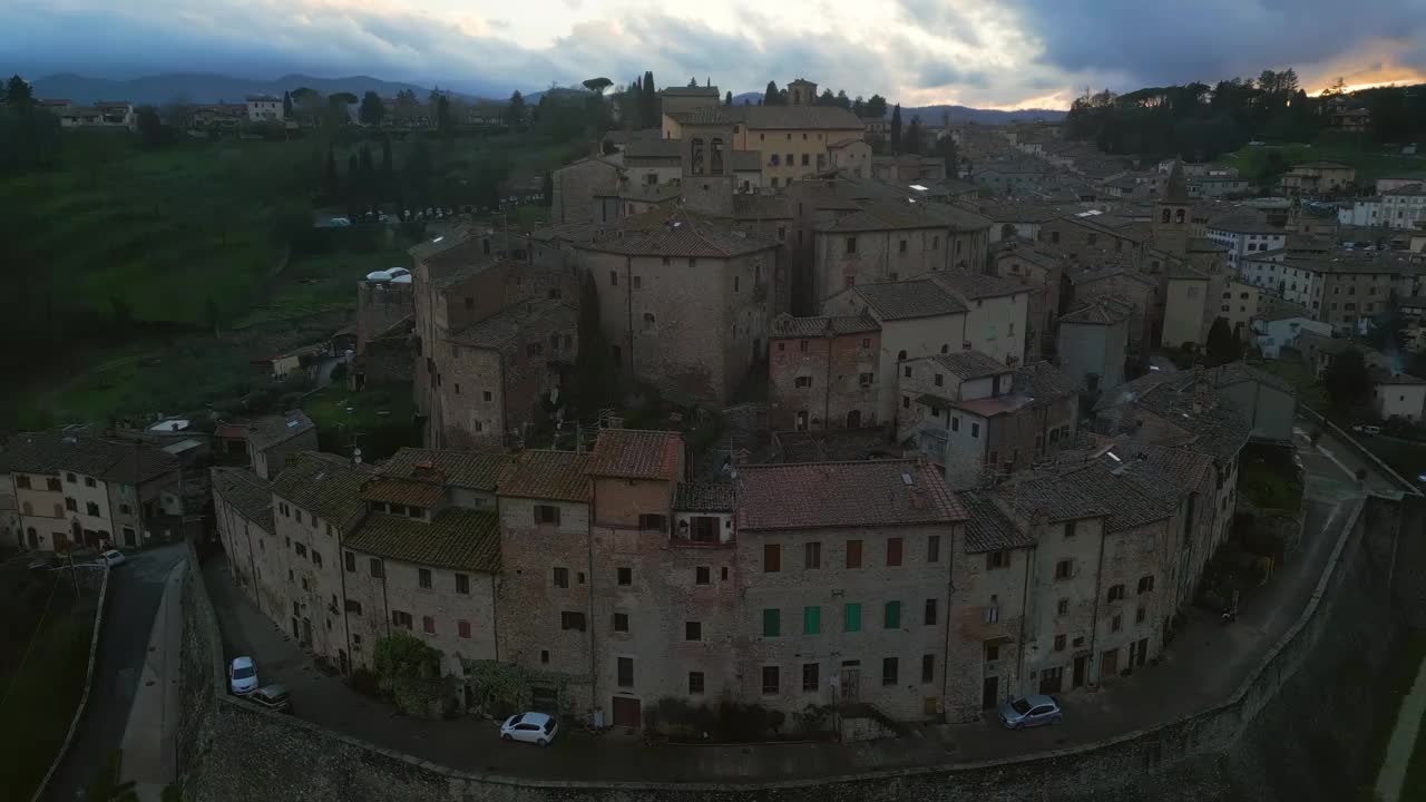
[[[867,315],[779,315],[769,337],[773,431],[874,427],[881,327]]]

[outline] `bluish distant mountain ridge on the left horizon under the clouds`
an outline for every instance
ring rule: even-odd
[[[94,103],[96,100],[128,100],[133,103],[153,103],[155,106],[184,97],[193,103],[241,103],[250,94],[272,94],[281,97],[284,91],[298,87],[308,87],[332,94],[335,91],[349,91],[362,94],[372,90],[376,94],[389,97],[401,90],[412,90],[416,97],[425,98],[431,87],[408,84],[401,81],[384,81],[371,76],[348,76],[344,78],[318,78],[314,76],[282,76],[275,80],[241,78],[234,76],[220,76],[211,73],[167,73],[161,76],[144,76],[133,80],[108,80],[61,73],[46,76],[34,81],[34,94],[46,98],[66,98],[74,103]]]

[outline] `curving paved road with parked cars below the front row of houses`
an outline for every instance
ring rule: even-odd
[[[1360,462],[1343,444],[1323,438],[1312,447],[1303,434],[1298,447],[1308,474],[1302,542],[1268,585],[1243,595],[1239,619],[1225,626],[1215,615],[1189,611],[1188,625],[1165,649],[1158,666],[1137,671],[1099,691],[1065,694],[1065,722],[1028,732],[977,722],[927,726],[908,738],[857,745],[655,749],[616,735],[575,731],[548,751],[502,743],[491,722],[399,718],[389,705],[321,675],[311,658],[232,585],[221,558],[210,561],[204,574],[228,656],[255,656],[264,682],[284,682],[292,691],[297,715],[458,769],[543,779],[739,782],[1008,758],[1178,719],[1225,701],[1249,676],[1296,621],[1352,507],[1363,495],[1355,479]],[[1369,477],[1366,485],[1389,487],[1379,477]]]

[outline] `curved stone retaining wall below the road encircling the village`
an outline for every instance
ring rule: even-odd
[[[605,785],[515,782],[451,772],[365,746],[289,716],[242,706],[221,694],[221,659],[197,567],[184,585],[184,682],[180,769],[184,798],[207,802],[607,801],[607,802],[1338,802],[1355,799],[1370,773],[1370,732],[1395,714],[1372,678],[1403,641],[1397,598],[1420,598],[1419,501],[1397,525],[1396,502],[1370,499],[1352,514],[1299,622],[1224,705],[1095,745],[1015,761],[868,772],[764,785]],[[1392,591],[1396,591],[1395,594]],[[208,654],[204,655],[204,649]],[[204,676],[207,672],[207,676]],[[242,749],[214,749],[242,743]],[[200,761],[201,758],[201,761]],[[274,796],[274,789],[281,792]]]

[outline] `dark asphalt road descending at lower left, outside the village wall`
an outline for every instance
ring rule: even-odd
[[[110,574],[88,709],[64,762],[50,781],[46,799],[84,799],[84,789],[103,766],[104,756],[123,742],[164,579],[183,554],[183,545],[167,545],[131,557]]]

